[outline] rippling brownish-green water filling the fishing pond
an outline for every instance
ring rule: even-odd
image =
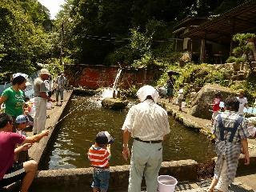
[[[66,106],[66,114],[85,102],[82,107],[58,124],[59,132],[53,146],[46,156],[43,168],[81,168],[89,167],[87,150],[96,134],[108,130],[115,138],[111,146],[110,166],[130,164],[122,158],[122,123],[129,109],[123,111],[107,110],[101,107],[100,100],[74,96]],[[205,135],[190,130],[169,118],[170,134],[163,142],[163,161],[194,159],[206,162],[214,157],[214,144]],[[131,146],[130,139],[130,146]]]

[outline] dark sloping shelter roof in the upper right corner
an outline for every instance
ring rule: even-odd
[[[256,31],[256,1],[247,1],[217,18],[183,34],[186,38],[206,38],[213,42],[229,43],[233,34]]]

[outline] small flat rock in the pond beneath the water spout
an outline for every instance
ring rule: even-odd
[[[121,100],[119,98],[104,98],[102,100],[102,106],[110,110],[122,110],[128,105],[128,101]]]

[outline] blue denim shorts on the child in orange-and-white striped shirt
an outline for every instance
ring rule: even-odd
[[[91,185],[91,187],[93,188],[98,188],[101,190],[101,192],[103,191],[107,191],[107,189],[109,188],[109,181],[110,181],[110,171],[97,171],[94,170],[94,182]]]

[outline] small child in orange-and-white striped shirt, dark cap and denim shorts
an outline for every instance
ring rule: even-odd
[[[110,180],[110,165],[109,160],[110,144],[114,142],[109,132],[101,131],[96,136],[96,142],[88,151],[88,158],[91,166],[94,167],[94,182],[92,188],[94,192],[106,192]]]

